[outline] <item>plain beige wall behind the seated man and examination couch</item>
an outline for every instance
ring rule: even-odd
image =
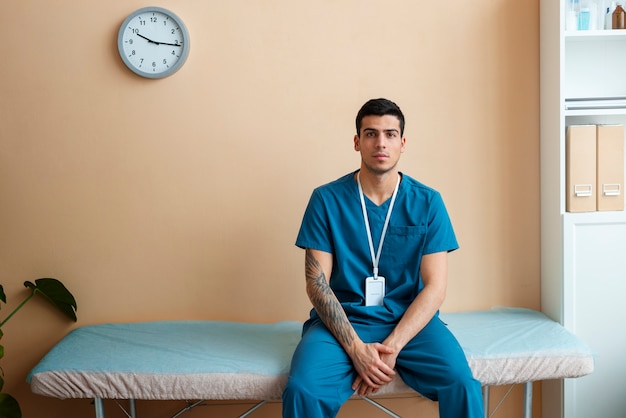
[[[76,325],[31,303],[4,328],[5,390],[25,417],[90,416],[88,401],[24,383],[73,326],[304,319],[300,218],[314,186],[358,166],[353,120],[371,97],[402,107],[401,169],[453,218],[444,310],[539,308],[537,1],[162,0],[191,52],[156,81],[116,49],[124,17],[149,4],[3,2],[2,316],[39,277],[79,305]]]

